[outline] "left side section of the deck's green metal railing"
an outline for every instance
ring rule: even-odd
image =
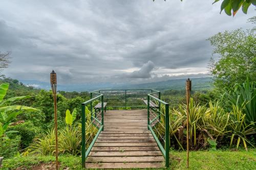
[[[96,96],[93,98],[93,94]],[[97,112],[93,108],[93,103],[101,102],[101,110]],[[87,105],[90,105],[90,111],[88,111]],[[86,166],[86,158],[91,152],[95,141],[97,140],[101,131],[104,130],[104,110],[103,110],[103,94],[93,92],[91,93],[91,99],[82,103],[82,167]],[[87,129],[93,129],[87,137]],[[94,131],[97,131],[94,136]],[[90,140],[90,144],[89,144]],[[89,145],[89,146],[88,146]],[[88,147],[87,147],[88,146]]]

